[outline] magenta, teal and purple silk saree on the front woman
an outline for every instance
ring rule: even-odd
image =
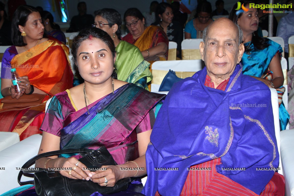
[[[47,109],[41,130],[60,137],[60,149],[105,146],[118,164],[139,157],[137,133],[151,130],[165,95],[150,93],[128,83],[86,107],[77,110],[69,90],[54,96]],[[60,157],[80,155],[60,155]],[[19,192],[21,191],[21,187]],[[17,188],[16,188],[17,189]],[[133,179],[126,191],[111,195],[139,196],[143,185]],[[34,195],[34,187],[19,195]],[[95,192],[92,196],[103,196]]]

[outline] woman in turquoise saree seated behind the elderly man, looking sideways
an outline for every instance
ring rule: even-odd
[[[289,121],[289,114],[282,102],[285,92],[284,75],[281,66],[281,54],[283,49],[278,43],[268,38],[259,37],[256,33],[258,29],[258,11],[256,8],[249,8],[250,1],[240,1],[244,4],[240,14],[236,14],[236,3],[229,15],[229,19],[238,24],[243,31],[243,42],[245,52],[242,57],[243,73],[259,81],[262,81],[270,88],[275,88],[279,98],[280,128],[286,129]],[[247,11],[246,9],[249,8]],[[237,12],[238,13],[238,12]]]

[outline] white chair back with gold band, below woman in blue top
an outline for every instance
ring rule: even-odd
[[[203,39],[184,39],[182,46],[182,60],[201,59],[199,45]]]

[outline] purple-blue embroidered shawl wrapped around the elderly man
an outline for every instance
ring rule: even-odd
[[[216,166],[258,195],[274,175],[279,154],[270,89],[237,64],[225,91],[204,86],[206,67],[175,83],[158,112],[146,151],[143,194],[180,195],[190,166],[221,158]],[[176,170],[156,170],[172,167]],[[222,170],[222,168],[245,170]],[[201,171],[200,171],[201,172]],[[167,183],[168,182],[168,183]]]

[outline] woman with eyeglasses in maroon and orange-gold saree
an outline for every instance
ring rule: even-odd
[[[159,26],[145,26],[145,19],[137,8],[129,8],[124,14],[126,27],[130,31],[124,41],[137,46],[149,63],[166,61],[168,58],[168,38]],[[151,69],[151,66],[150,66]]]

